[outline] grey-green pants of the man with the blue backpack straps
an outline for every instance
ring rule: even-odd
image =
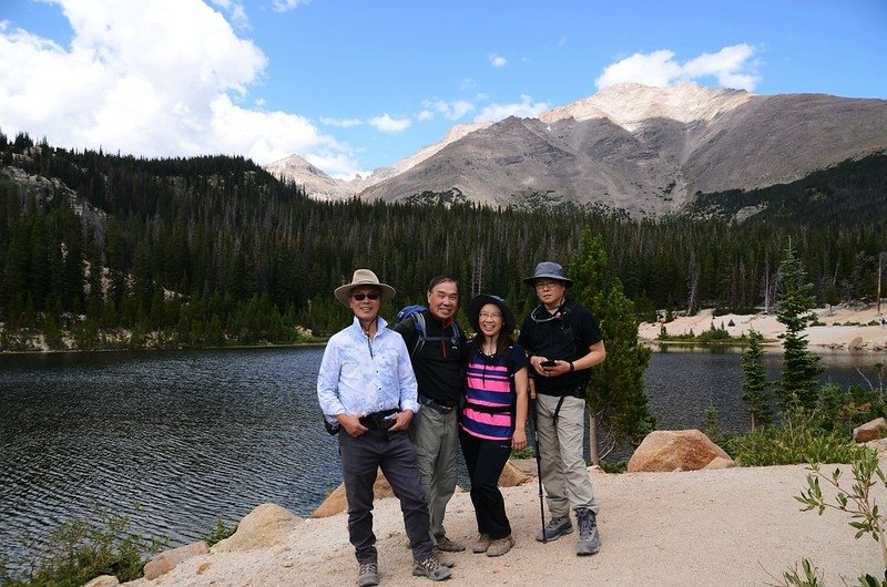
[[[409,436],[419,465],[419,480],[428,496],[430,532],[435,544],[446,535],[443,514],[456,491],[459,465],[457,412],[458,408],[453,408],[449,413],[441,414],[434,408],[422,405],[409,425]]]

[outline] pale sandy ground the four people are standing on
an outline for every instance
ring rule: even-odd
[[[547,545],[536,542],[533,478],[503,490],[516,547],[499,558],[455,555],[446,585],[767,585],[802,557],[824,570],[826,585],[856,585],[860,573],[883,573],[877,544],[855,540],[847,514],[799,511],[793,496],[806,487],[807,473],[802,465],[626,474],[592,468],[603,545],[590,557],[575,556],[575,533]],[[887,492],[879,485],[876,496],[883,504]],[[378,501],[375,516],[381,585],[430,585],[410,574],[398,502]],[[453,538],[475,537],[468,494],[453,496],[446,525]],[[194,557],[154,581],[133,585],[334,586],[354,585],[356,575],[346,516],[339,514],[306,519],[272,548]]]

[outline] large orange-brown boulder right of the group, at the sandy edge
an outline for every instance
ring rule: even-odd
[[[716,457],[732,461],[699,430],[656,430],[634,451],[629,460],[629,473],[696,471]]]

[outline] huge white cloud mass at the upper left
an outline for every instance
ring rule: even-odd
[[[264,164],[353,152],[305,117],[249,100],[267,59],[198,0],[57,0],[70,48],[0,23],[0,128],[147,156],[241,154]],[[235,14],[238,1],[216,0]],[[234,17],[232,17],[234,18]]]

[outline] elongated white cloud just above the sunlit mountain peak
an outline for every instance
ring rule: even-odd
[[[683,63],[677,62],[674,51],[667,49],[634,53],[604,68],[594,84],[599,90],[618,83],[665,87],[713,76],[721,86],[751,92],[761,81],[754,54],[755,49],[748,44],[725,47],[717,53],[703,53]]]

